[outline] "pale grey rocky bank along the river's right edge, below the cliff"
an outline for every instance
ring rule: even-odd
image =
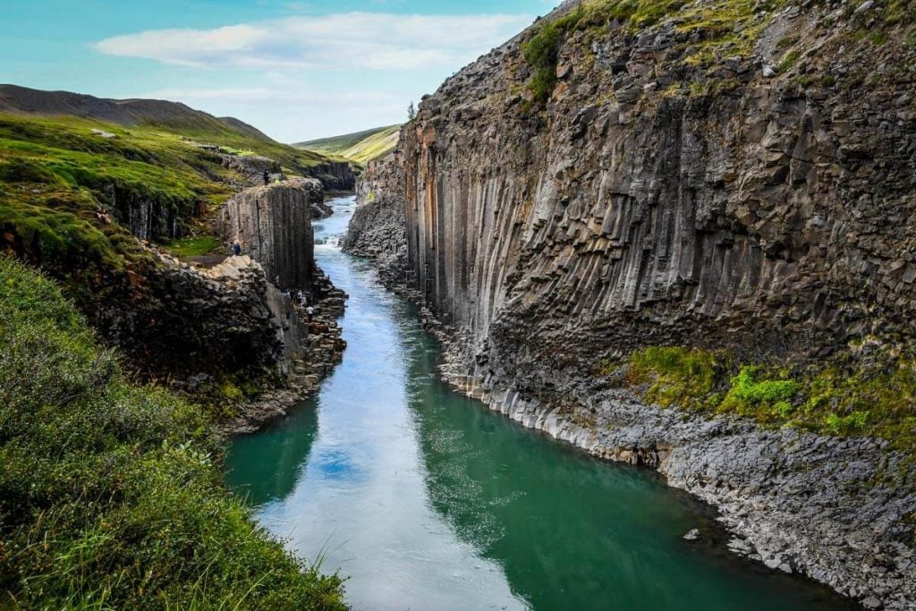
[[[439,371],[456,390],[595,457],[658,470],[669,486],[716,509],[738,555],[828,584],[869,609],[916,608],[911,459],[889,452],[888,442],[703,418],[569,372],[540,372],[551,387],[542,401],[506,384],[505,372],[478,365],[485,357],[468,354],[466,334],[398,281],[405,270],[392,273],[382,262],[383,282],[420,306],[424,327],[442,344]]]

